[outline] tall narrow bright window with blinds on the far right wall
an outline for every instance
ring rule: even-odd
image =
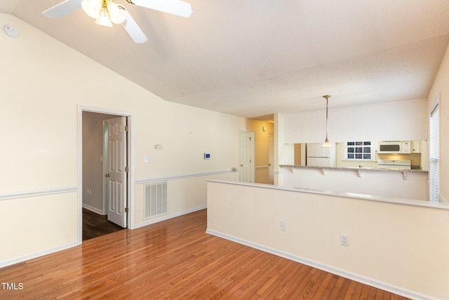
[[[438,170],[438,104],[430,114],[429,124],[429,201],[438,202],[439,170]]]

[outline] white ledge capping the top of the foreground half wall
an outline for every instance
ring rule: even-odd
[[[235,185],[241,185],[241,186],[253,186],[253,187],[259,187],[262,189],[278,189],[282,191],[295,191],[298,193],[316,193],[320,195],[328,195],[328,196],[335,196],[335,197],[344,197],[344,198],[354,198],[354,199],[360,199],[360,200],[370,200],[370,201],[378,201],[378,202],[387,202],[387,203],[394,203],[394,204],[401,204],[401,205],[413,205],[413,206],[422,206],[422,207],[429,207],[429,208],[438,208],[443,210],[449,210],[449,203],[439,203],[439,202],[429,202],[424,200],[413,200],[413,199],[406,199],[406,198],[394,198],[394,197],[385,197],[385,196],[373,196],[373,195],[366,195],[363,193],[346,193],[346,192],[340,192],[340,191],[324,191],[320,189],[299,189],[292,186],[276,186],[273,184],[253,184],[250,182],[226,182],[222,180],[211,180],[208,179],[208,182],[216,182],[220,184],[235,184]]]

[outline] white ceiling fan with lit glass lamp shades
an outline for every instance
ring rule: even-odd
[[[126,0],[126,2],[185,18],[189,18],[192,14],[190,4],[180,0]],[[49,18],[59,19],[79,8],[83,8],[83,11],[94,18],[98,25],[112,27],[112,23],[121,24],[135,43],[148,41],[147,36],[126,8],[121,4],[116,4],[114,0],[65,0],[43,11],[42,14]]]

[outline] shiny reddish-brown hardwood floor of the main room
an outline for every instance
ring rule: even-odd
[[[206,210],[0,268],[0,299],[405,299],[210,236]]]

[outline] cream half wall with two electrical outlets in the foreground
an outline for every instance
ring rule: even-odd
[[[208,182],[207,231],[413,299],[449,299],[448,207],[326,193]]]

